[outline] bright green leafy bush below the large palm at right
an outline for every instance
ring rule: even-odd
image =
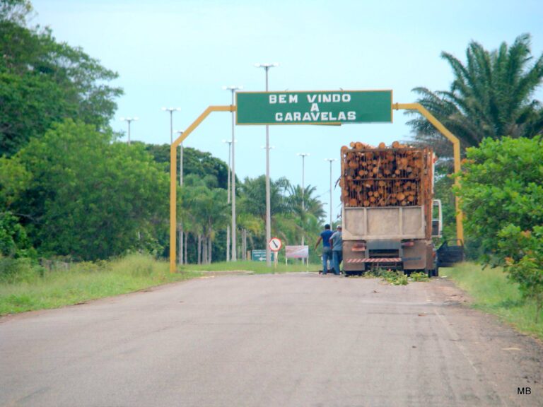
[[[507,225],[543,225],[542,138],[486,138],[467,150],[461,184],[467,235],[481,242],[482,259],[492,261]]]

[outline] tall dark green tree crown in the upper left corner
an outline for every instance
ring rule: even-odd
[[[27,28],[27,1],[0,4],[0,151],[11,156],[66,117],[107,129],[120,88],[117,73],[49,29]]]

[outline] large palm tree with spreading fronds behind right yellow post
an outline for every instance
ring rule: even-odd
[[[478,146],[485,137],[531,138],[543,131],[543,108],[532,95],[543,79],[543,54],[536,61],[530,51],[530,35],[523,34],[508,47],[494,51],[479,43],[467,48],[467,63],[443,52],[455,79],[450,90],[432,92],[414,88],[421,103],[445,127],[460,138],[462,148]],[[416,141],[431,144],[442,157],[452,156],[452,147],[438,131],[417,116],[408,124]]]

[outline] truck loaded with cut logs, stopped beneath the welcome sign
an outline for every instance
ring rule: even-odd
[[[433,237],[441,235],[441,205],[433,199],[434,154],[395,141],[377,148],[341,148],[343,268],[438,275]]]

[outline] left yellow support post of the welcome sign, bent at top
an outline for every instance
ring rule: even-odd
[[[204,121],[211,112],[235,112],[235,106],[209,106],[170,146],[170,273],[175,273],[175,245],[177,232],[177,146]]]

